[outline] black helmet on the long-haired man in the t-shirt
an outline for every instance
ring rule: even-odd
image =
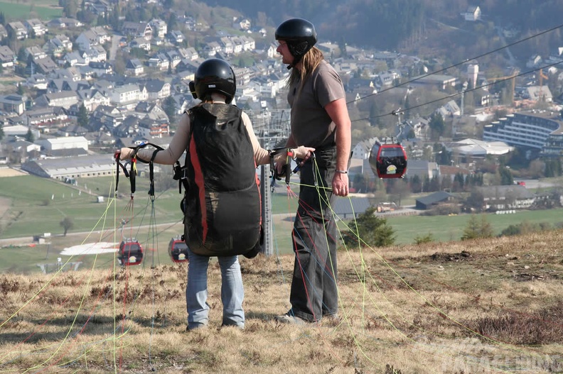
[[[288,19],[276,29],[276,40],[284,40],[287,43],[289,53],[296,59],[295,65],[315,45],[315,26],[303,18]]]

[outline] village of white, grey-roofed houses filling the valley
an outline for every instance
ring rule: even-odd
[[[284,143],[289,72],[276,53],[273,25],[237,16],[218,27],[189,12],[127,21],[108,1],[83,4],[75,17],[49,20],[0,12],[1,167],[72,182],[112,175],[112,155],[121,147],[166,147],[179,116],[196,103],[188,82],[210,57],[233,65],[236,104],[264,147]],[[87,13],[90,23],[77,13]],[[483,16],[469,6],[459,23]],[[504,45],[518,40],[518,28],[494,27]],[[351,191],[375,194],[381,207],[420,194],[416,209],[441,214],[561,206],[557,188],[537,196],[516,181],[562,174],[561,98],[552,89],[561,92],[563,47],[526,61],[503,49],[505,66],[494,72],[471,56],[449,70],[441,56],[355,48],[322,35],[317,47],[347,90]],[[385,185],[369,163],[383,137],[401,141],[408,156],[404,178]]]

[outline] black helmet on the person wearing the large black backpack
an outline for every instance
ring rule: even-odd
[[[227,97],[225,102],[230,104],[237,91],[235,72],[225,60],[205,60],[195,72],[193,82],[190,82],[190,91],[194,99],[200,100],[210,99],[212,92],[219,92]]]

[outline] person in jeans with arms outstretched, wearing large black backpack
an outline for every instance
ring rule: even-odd
[[[172,165],[187,151],[189,189],[184,218],[186,243],[189,240],[187,329],[208,326],[207,270],[211,256],[218,257],[221,268],[222,326],[243,329],[244,288],[238,255],[246,255],[248,248],[256,243],[254,235],[259,236],[253,229],[257,217],[250,214],[260,204],[255,169],[256,165],[269,163],[270,155],[260,147],[247,114],[230,105],[235,97],[236,79],[228,62],[206,60],[198,67],[189,87],[193,97],[201,102],[181,116],[168,148],[160,152],[143,148],[138,150],[136,158]],[[232,152],[235,147],[237,152]],[[301,147],[293,151],[306,157],[313,150]],[[132,148],[121,148],[119,153],[121,160],[129,160],[134,155]],[[277,157],[286,158],[286,155]],[[237,189],[241,185],[243,188]],[[224,188],[229,191],[222,193]],[[239,191],[241,194],[237,194]],[[251,200],[247,203],[249,194]],[[237,207],[237,204],[245,204],[245,207]],[[249,226],[252,234],[242,236],[254,238],[251,246],[248,242],[252,238],[238,234],[239,231],[246,233]],[[229,231],[231,228],[234,231]]]

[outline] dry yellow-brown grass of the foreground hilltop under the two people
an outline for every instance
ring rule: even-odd
[[[2,373],[563,373],[563,233],[339,253],[342,320],[288,326],[293,256],[242,259],[244,331],[186,332],[186,265],[0,275]]]

